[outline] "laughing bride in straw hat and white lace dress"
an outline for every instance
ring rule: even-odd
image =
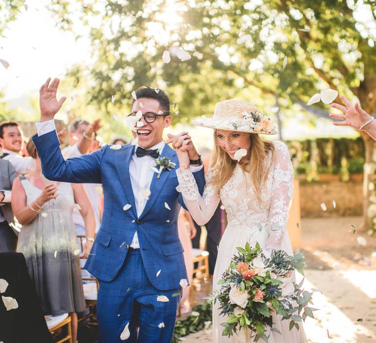
[[[199,225],[206,224],[219,201],[225,206],[228,225],[218,247],[213,275],[213,290],[229,267],[237,246],[258,242],[266,249],[283,249],[292,255],[286,231],[293,191],[293,169],[287,147],[282,142],[264,142],[259,134],[275,134],[276,129],[255,106],[243,100],[225,100],[215,105],[212,118],[203,116],[194,122],[214,129],[214,151],[206,188],[200,196],[189,171],[187,147],[190,137],[175,136],[172,146],[179,157],[178,176],[184,202]],[[226,321],[220,316],[218,302],[213,306],[212,327],[215,343],[248,343],[249,329],[241,329],[228,338],[222,336]],[[303,327],[289,330],[289,320],[273,315],[273,327],[282,334],[270,334],[268,343],[304,343]],[[262,341],[262,339],[261,339]]]

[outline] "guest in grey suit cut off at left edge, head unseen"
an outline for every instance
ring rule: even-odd
[[[0,252],[16,251],[17,247],[18,233],[9,225],[14,221],[10,201],[16,176],[11,163],[0,159]]]

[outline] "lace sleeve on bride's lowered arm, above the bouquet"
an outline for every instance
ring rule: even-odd
[[[293,193],[293,168],[287,147],[282,142],[275,142],[275,160],[273,173],[272,199],[269,209],[266,246],[280,248],[286,231],[290,201]]]

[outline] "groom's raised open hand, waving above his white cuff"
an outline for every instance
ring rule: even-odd
[[[61,98],[59,101],[56,99],[57,87],[60,80],[58,78],[53,79],[51,84],[49,82],[51,78],[47,78],[47,81],[42,85],[39,90],[39,106],[41,108],[41,122],[53,119],[55,114],[60,110],[66,97]]]

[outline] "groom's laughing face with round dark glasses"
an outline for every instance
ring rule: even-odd
[[[138,138],[138,145],[145,149],[150,149],[159,144],[163,140],[163,130],[170,126],[171,116],[160,116],[155,119],[153,123],[145,121],[144,114],[152,112],[160,114],[162,109],[157,99],[153,98],[139,98],[132,105],[132,113],[142,112],[140,122],[143,126],[136,127],[136,132],[133,131],[135,138]]]

